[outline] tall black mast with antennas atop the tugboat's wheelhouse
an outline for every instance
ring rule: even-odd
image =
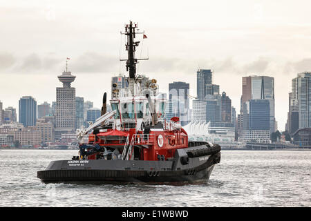
[[[135,95],[134,93],[134,84],[137,83],[137,76],[136,76],[136,64],[138,64],[138,60],[147,60],[148,58],[135,58],[135,51],[138,44],[140,44],[140,41],[135,41],[135,35],[136,34],[144,34],[143,32],[138,32],[135,30],[135,28],[138,28],[137,23],[133,23],[130,21],[129,24],[125,25],[125,32],[121,32],[121,35],[127,36],[127,42],[125,45],[125,50],[127,50],[127,59],[120,59],[120,61],[126,61],[126,71],[129,71],[129,90],[131,91],[132,95]]]

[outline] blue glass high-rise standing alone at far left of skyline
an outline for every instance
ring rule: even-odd
[[[31,96],[19,99],[19,123],[23,126],[35,126],[37,120],[37,101]]]

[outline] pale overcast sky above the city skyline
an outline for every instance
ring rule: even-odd
[[[274,77],[276,120],[284,130],[288,93],[297,73],[311,70],[310,1],[4,1],[0,0],[0,101],[18,108],[21,96],[53,102],[57,75],[76,76],[76,95],[101,107],[111,77],[126,74],[124,23],[139,23],[147,39],[138,48],[138,73],[190,83],[196,70],[214,70],[240,109],[242,77]]]

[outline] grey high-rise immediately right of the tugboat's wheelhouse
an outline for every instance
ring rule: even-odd
[[[175,116],[180,117],[182,126],[188,124],[189,84],[182,81],[170,83],[169,101],[169,104],[172,105],[172,112],[175,113]]]

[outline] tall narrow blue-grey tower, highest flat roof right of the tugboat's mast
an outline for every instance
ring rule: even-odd
[[[205,99],[207,84],[212,84],[213,73],[211,70],[199,69],[196,73],[196,91],[200,100]]]

